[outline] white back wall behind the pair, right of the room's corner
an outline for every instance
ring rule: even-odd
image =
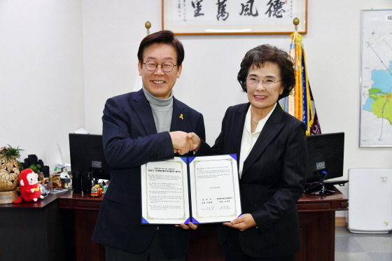
[[[160,3],[160,0],[99,1],[99,4],[94,0],[83,1],[84,48],[90,49],[84,52],[86,97],[101,91],[99,101],[91,101],[92,106],[86,108],[90,132],[102,132],[99,117],[104,100],[132,90],[137,77],[137,48],[146,34],[144,22],[151,22],[151,32],[161,29]],[[349,168],[392,168],[392,148],[358,148],[360,10],[370,8],[392,8],[392,2],[308,2],[308,33],[303,35],[303,43],[311,90],[322,132],[346,134],[344,178]],[[236,80],[245,52],[263,43],[288,50],[290,43],[289,35],[178,38],[186,49],[186,57],[174,95],[203,113],[209,143],[214,143],[218,136],[225,109],[246,101],[246,94]]]

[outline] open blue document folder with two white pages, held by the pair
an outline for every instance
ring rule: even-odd
[[[223,223],[241,216],[237,155],[141,166],[141,223]]]

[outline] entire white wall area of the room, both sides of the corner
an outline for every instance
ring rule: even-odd
[[[344,178],[349,168],[392,168],[392,148],[358,148],[360,10],[370,8],[392,2],[308,0],[303,43],[311,90],[322,132],[346,134]],[[78,127],[101,134],[105,100],[134,87],[144,23],[159,31],[161,11],[161,0],[0,0],[0,146],[25,148],[52,168],[59,143],[69,162],[67,134]],[[246,101],[236,80],[245,52],[263,43],[288,50],[290,43],[286,34],[178,38],[186,57],[174,95],[203,113],[209,143],[225,109]]]

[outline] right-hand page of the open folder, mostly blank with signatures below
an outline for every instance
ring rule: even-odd
[[[190,160],[193,223],[228,222],[240,216],[236,155],[204,156]]]

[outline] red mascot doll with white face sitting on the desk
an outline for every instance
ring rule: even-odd
[[[22,202],[22,198],[26,202],[36,202],[38,198],[43,199],[38,184],[38,175],[32,169],[25,169],[20,173],[19,190],[21,195],[13,203]]]

